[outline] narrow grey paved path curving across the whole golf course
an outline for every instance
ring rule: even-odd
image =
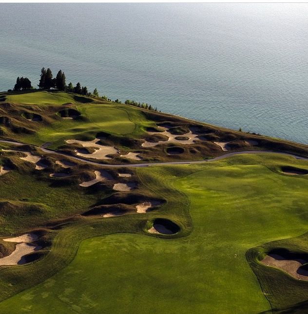
[[[20,146],[20,145],[25,145],[23,143],[19,143],[19,142],[13,142],[13,141],[6,141],[6,140],[0,140],[0,143],[7,143],[7,144],[12,144],[12,145],[16,145],[16,146]],[[64,157],[69,157],[78,161],[81,161],[83,163],[87,163],[87,164],[91,164],[91,165],[95,165],[95,166],[100,166],[100,167],[111,167],[111,168],[116,168],[116,167],[148,167],[148,166],[159,166],[159,165],[190,165],[190,164],[201,164],[201,163],[208,163],[208,162],[212,162],[212,161],[216,161],[216,160],[220,160],[226,157],[230,157],[233,155],[238,155],[238,154],[260,154],[260,153],[275,153],[275,154],[281,154],[284,156],[290,156],[290,157],[294,157],[296,159],[303,159],[303,160],[308,160],[308,158],[306,157],[301,157],[301,156],[297,156],[297,155],[293,155],[293,154],[289,154],[289,153],[284,153],[281,151],[273,151],[273,150],[244,150],[244,151],[235,151],[235,152],[231,152],[231,153],[226,153],[224,155],[212,158],[212,159],[206,159],[206,160],[197,160],[197,161],[171,161],[171,162],[158,162],[158,163],[140,163],[140,164],[119,164],[119,165],[108,165],[108,164],[100,164],[100,163],[96,163],[94,161],[90,161],[87,160],[85,158],[81,158],[81,157],[77,157],[77,156],[73,156],[70,154],[66,154],[63,152],[58,152],[52,149],[48,149],[45,147],[39,147],[43,152],[48,153],[48,154],[55,154],[55,155],[59,155],[59,156],[64,156]]]

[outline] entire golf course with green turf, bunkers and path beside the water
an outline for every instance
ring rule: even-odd
[[[0,314],[307,313],[308,146],[0,93]]]

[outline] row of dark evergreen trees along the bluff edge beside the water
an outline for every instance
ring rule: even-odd
[[[93,92],[89,92],[87,86],[81,86],[81,84],[78,82],[76,86],[73,85],[72,82],[70,82],[68,85],[66,85],[66,77],[62,70],[59,70],[56,77],[53,77],[53,73],[50,68],[47,68],[47,70],[43,67],[40,70],[40,77],[39,77],[39,89],[47,89],[47,90],[59,90],[59,91],[65,91],[69,93],[75,93],[79,95],[89,96],[89,97],[95,97],[100,98],[105,101],[112,102],[111,99],[109,99],[107,96],[99,96],[97,89],[95,88]],[[16,84],[14,86],[14,91],[21,91],[21,90],[30,90],[35,89],[31,81],[28,78],[17,78]],[[8,91],[12,91],[9,89]],[[121,101],[116,99],[114,101],[117,104],[121,104]],[[152,105],[148,105],[147,103],[140,103],[135,102],[134,100],[127,99],[125,101],[125,105],[133,105],[140,108],[148,109],[157,111],[157,108],[152,107]]]

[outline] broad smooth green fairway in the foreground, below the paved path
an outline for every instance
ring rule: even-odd
[[[270,310],[245,253],[304,233],[308,221],[308,180],[277,173],[282,165],[308,168],[304,161],[263,154],[138,169],[140,180],[155,193],[170,200],[179,192],[188,196],[191,234],[162,239],[124,233],[84,240],[68,267],[2,302],[0,313]],[[168,205],[160,214],[176,217],[180,203]]]

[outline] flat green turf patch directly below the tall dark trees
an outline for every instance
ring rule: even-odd
[[[63,105],[86,102],[89,103],[93,100],[89,97],[65,92],[35,91],[28,93],[9,93],[6,95],[6,101],[24,105]]]

